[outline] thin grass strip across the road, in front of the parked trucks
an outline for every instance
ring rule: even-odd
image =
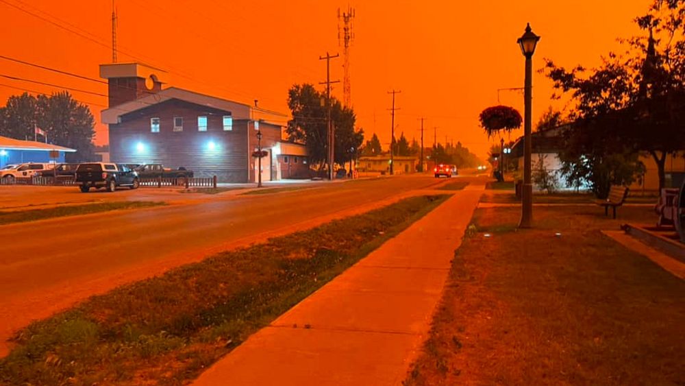
[[[116,201],[101,202],[99,204],[55,206],[54,208],[45,209],[6,210],[0,211],[0,225],[51,219],[53,217],[88,215],[89,213],[109,212],[110,210],[150,208],[152,206],[160,205],[166,205],[166,203],[152,201]]]

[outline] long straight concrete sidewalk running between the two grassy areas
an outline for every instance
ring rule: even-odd
[[[484,186],[467,186],[203,373],[195,385],[399,385]]]

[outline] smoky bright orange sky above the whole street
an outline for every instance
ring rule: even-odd
[[[119,15],[119,62],[143,60],[165,69],[170,84],[287,112],[292,84],[325,80],[319,56],[342,53],[338,8],[356,9],[351,48],[351,95],[358,127],[390,142],[391,97],[397,95],[396,135],[420,138],[419,117],[427,118],[426,146],[461,141],[479,156],[491,143],[478,114],[497,104],[498,88],[523,86],[524,59],[516,38],[527,22],[542,36],[534,69],[543,58],[557,64],[593,67],[617,37],[638,34],[633,23],[651,0],[494,1],[221,1],[115,0]],[[41,16],[39,19],[26,12]],[[0,54],[48,67],[98,77],[111,62],[110,0],[0,0]],[[56,19],[55,19],[56,18]],[[67,32],[73,29],[90,40]],[[95,40],[95,41],[93,41]],[[96,43],[99,42],[99,43]],[[342,58],[332,60],[332,79],[342,80]],[[105,84],[42,71],[0,59],[0,74],[26,77],[106,94]],[[533,121],[551,101],[551,82],[534,73]],[[0,102],[26,88],[58,88],[0,78]],[[9,88],[12,86],[15,88]],[[334,95],[342,99],[342,84]],[[97,144],[108,141],[99,112],[105,97],[73,91],[88,102],[97,121]],[[523,95],[502,91],[501,104],[523,113]],[[512,139],[521,135],[514,132]],[[499,142],[499,140],[498,140]]]

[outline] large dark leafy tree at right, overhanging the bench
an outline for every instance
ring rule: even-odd
[[[623,40],[625,57],[609,53],[591,70],[567,70],[547,60],[547,76],[576,103],[569,116],[573,130],[564,135],[560,154],[563,169],[571,176],[589,173],[600,195],[609,184],[634,180],[643,170],[640,151],[656,162],[661,189],[667,154],[685,148],[684,18],[685,1],[656,0],[636,18],[644,36]]]

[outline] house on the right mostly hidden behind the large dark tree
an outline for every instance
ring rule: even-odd
[[[560,189],[575,189],[565,178],[561,176],[560,170],[562,162],[559,159],[559,152],[563,146],[562,135],[569,125],[560,125],[556,128],[532,133],[532,166],[535,171],[538,162],[543,162],[547,171],[556,174]],[[510,157],[516,160],[519,171],[523,171],[523,136],[519,137],[514,146]],[[656,191],[659,188],[659,174],[656,162],[648,155],[640,155],[640,161],[645,164],[645,174],[640,176],[636,182],[630,186],[631,191]],[[669,154],[665,165],[666,173],[685,171],[685,151]]]

